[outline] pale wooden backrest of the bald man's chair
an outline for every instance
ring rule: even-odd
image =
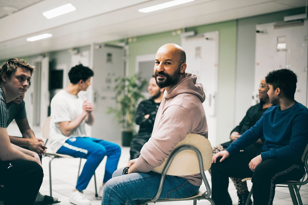
[[[212,146],[208,139],[206,139],[200,134],[190,133],[185,137],[183,141],[179,142],[173,150],[183,145],[194,146],[201,152],[204,171],[208,170],[211,167]],[[169,156],[171,156],[171,154],[172,152]],[[156,173],[162,173],[168,159],[169,157],[165,159],[163,164],[161,164],[159,167],[154,168],[152,171]],[[174,176],[188,176],[199,173],[199,160],[196,152],[194,152],[193,150],[184,150],[174,157],[166,174]]]

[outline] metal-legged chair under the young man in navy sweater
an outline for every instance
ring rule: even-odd
[[[308,150],[308,144],[305,148],[305,151],[302,155],[302,162],[304,163],[304,166],[305,166],[305,169],[306,169],[306,173],[308,171],[308,153],[307,153],[307,150]],[[301,181],[287,181],[287,182],[284,182],[284,183],[280,183],[281,185],[287,185],[287,186],[277,186],[276,187],[288,187],[289,188],[289,191],[290,191],[290,195],[291,195],[291,199],[292,199],[292,202],[294,205],[303,205],[302,203],[302,198],[301,198],[301,195],[299,193],[299,189],[297,186],[302,186],[302,185],[305,185],[308,183],[308,177],[307,179],[304,181],[305,179],[305,176],[306,176],[306,173],[304,174],[303,178]],[[251,178],[245,178],[245,179],[242,179],[242,182],[244,181],[247,181],[247,180],[250,180]],[[294,193],[294,190],[295,190],[295,193]],[[249,195],[248,195],[248,198],[247,198],[247,201],[246,201],[246,204],[245,205],[248,205],[250,200],[251,200],[251,195],[252,195],[252,187],[250,189],[250,192],[249,192]],[[297,199],[296,199],[297,197]]]

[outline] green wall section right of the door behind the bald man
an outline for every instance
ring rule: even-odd
[[[228,141],[234,128],[235,73],[237,21],[228,21],[187,28],[186,31],[205,33],[219,31],[218,90],[217,90],[217,144]]]

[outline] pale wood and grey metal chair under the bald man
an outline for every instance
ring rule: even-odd
[[[152,170],[161,174],[159,187],[154,198],[145,199],[141,205],[145,205],[149,202],[156,203],[188,200],[193,200],[193,204],[196,205],[197,200],[201,199],[208,200],[212,205],[215,205],[213,199],[210,198],[211,188],[204,173],[211,165],[212,146],[209,140],[200,134],[188,134],[183,141],[179,142],[174,147],[172,153],[164,160],[164,163]],[[182,199],[158,199],[163,190],[166,175],[187,176],[197,173],[201,173],[205,188],[200,187],[195,195]],[[128,205],[128,201],[126,204]]]

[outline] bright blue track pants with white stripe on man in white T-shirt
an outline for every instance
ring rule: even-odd
[[[121,148],[119,145],[105,140],[91,137],[71,137],[65,141],[57,153],[87,159],[76,185],[76,189],[82,191],[87,188],[95,169],[106,155],[103,183],[111,179],[112,173],[118,167]]]

